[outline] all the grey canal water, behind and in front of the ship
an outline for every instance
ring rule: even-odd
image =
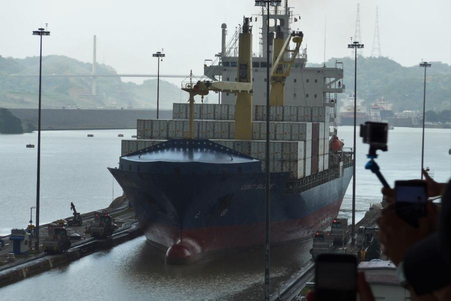
[[[42,134],[41,223],[71,215],[73,201],[80,212],[109,205],[122,194],[106,167],[117,166],[120,140],[135,130],[44,131]],[[338,129],[345,147],[352,146],[352,127]],[[88,138],[92,133],[94,137]],[[117,136],[124,134],[123,138]],[[451,171],[449,129],[426,129],[424,165],[437,181]],[[357,132],[358,135],[358,132]],[[0,134],[0,235],[23,228],[36,201],[37,134]],[[357,137],[356,219],[371,203],[380,202],[381,185],[364,169],[368,145]],[[377,162],[388,183],[419,178],[421,129],[389,131],[388,152]],[[351,216],[352,182],[340,216]],[[33,216],[34,220],[34,216]],[[272,283],[286,281],[308,259],[311,241],[277,247],[272,252]],[[164,254],[144,237],[97,252],[69,265],[0,288],[3,300],[45,299],[50,295],[82,300],[260,300],[264,274],[261,250],[230,254],[189,266],[164,265]]]

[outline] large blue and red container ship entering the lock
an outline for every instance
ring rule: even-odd
[[[287,1],[269,18],[272,38],[261,32],[260,46],[270,43],[276,68],[252,51],[251,20],[257,27],[266,15],[245,18],[227,44],[222,24],[217,61],[204,66],[204,78],[182,82],[189,100],[173,104],[170,120],[138,119],[137,138],[122,140],[119,166],[109,168],[168,264],[263,247],[267,135],[271,242],[310,238],[338,214],[352,177],[334,114],[343,68],[305,67],[304,34],[291,31]],[[212,92],[220,104],[203,103]]]

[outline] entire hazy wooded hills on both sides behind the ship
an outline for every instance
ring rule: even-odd
[[[346,93],[354,90],[354,60],[350,57],[332,58],[344,63]],[[403,67],[388,58],[357,59],[357,95],[365,104],[385,97],[394,104],[395,111],[422,109],[424,69],[418,65]],[[451,109],[451,67],[431,62],[426,77],[426,110]],[[320,67],[322,64],[308,64]],[[92,64],[65,56],[43,57],[43,74],[91,74]],[[97,65],[97,74],[115,74],[113,67]],[[36,108],[38,103],[38,77],[18,75],[39,74],[39,57],[25,59],[0,56],[0,107]],[[91,95],[90,77],[43,77],[43,108],[134,108],[156,107],[156,79],[145,80],[138,85],[123,82],[118,77],[98,77],[97,96]],[[344,97],[341,95],[339,98]],[[172,109],[172,102],[187,99],[180,88],[160,80],[160,108]]]

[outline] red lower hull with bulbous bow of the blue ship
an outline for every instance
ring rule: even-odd
[[[271,223],[271,243],[294,243],[325,229],[336,217],[342,200],[301,219]],[[248,249],[265,241],[265,224],[180,229],[163,224],[147,225],[145,234],[152,245],[166,251],[167,264],[188,264],[227,251]]]

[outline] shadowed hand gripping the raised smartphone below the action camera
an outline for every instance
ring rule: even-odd
[[[432,210],[429,208],[430,206],[434,205],[428,203],[428,212]],[[380,217],[377,218],[377,224],[380,229],[377,236],[384,245],[384,253],[395,265],[402,261],[405,252],[413,244],[433,232],[428,217],[418,219],[419,227],[414,228],[396,215],[394,204],[390,204],[381,211]]]

